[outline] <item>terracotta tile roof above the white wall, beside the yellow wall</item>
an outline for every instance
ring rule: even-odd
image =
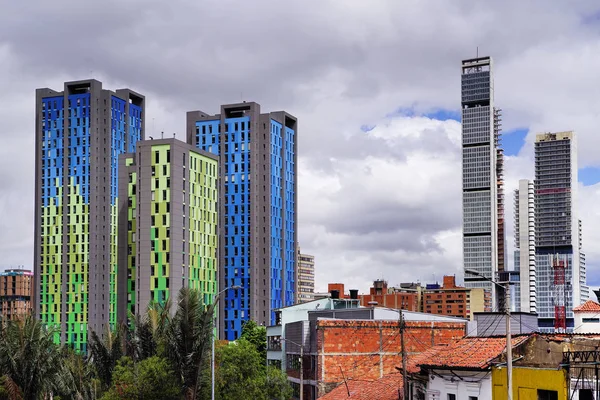
[[[529,335],[514,336],[513,347],[520,345]],[[421,367],[487,369],[492,360],[504,352],[505,337],[465,337],[447,346],[436,346],[426,352],[417,363]],[[409,369],[409,372],[410,371]]]

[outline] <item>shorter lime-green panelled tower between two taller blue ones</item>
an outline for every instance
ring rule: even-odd
[[[217,293],[218,157],[176,139],[139,142],[119,166],[118,320],[196,289]]]

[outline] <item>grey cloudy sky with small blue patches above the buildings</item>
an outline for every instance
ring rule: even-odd
[[[256,101],[299,118],[299,237],[318,290],[462,280],[460,62],[490,55],[512,190],[536,132],[575,130],[600,285],[597,1],[0,0],[0,266],[33,262],[35,88],[146,95],[147,135]]]

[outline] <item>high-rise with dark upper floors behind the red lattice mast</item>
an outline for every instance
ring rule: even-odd
[[[570,330],[573,307],[589,298],[577,214],[575,134],[536,135],[535,264],[537,311],[543,331],[554,330],[560,319]]]

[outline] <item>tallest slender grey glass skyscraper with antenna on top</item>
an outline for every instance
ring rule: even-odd
[[[502,307],[504,302],[503,293],[496,293],[489,280],[505,269],[506,259],[504,155],[500,147],[500,110],[494,108],[492,67],[490,57],[481,57],[464,60],[461,70],[465,286],[490,293],[488,311]]]

